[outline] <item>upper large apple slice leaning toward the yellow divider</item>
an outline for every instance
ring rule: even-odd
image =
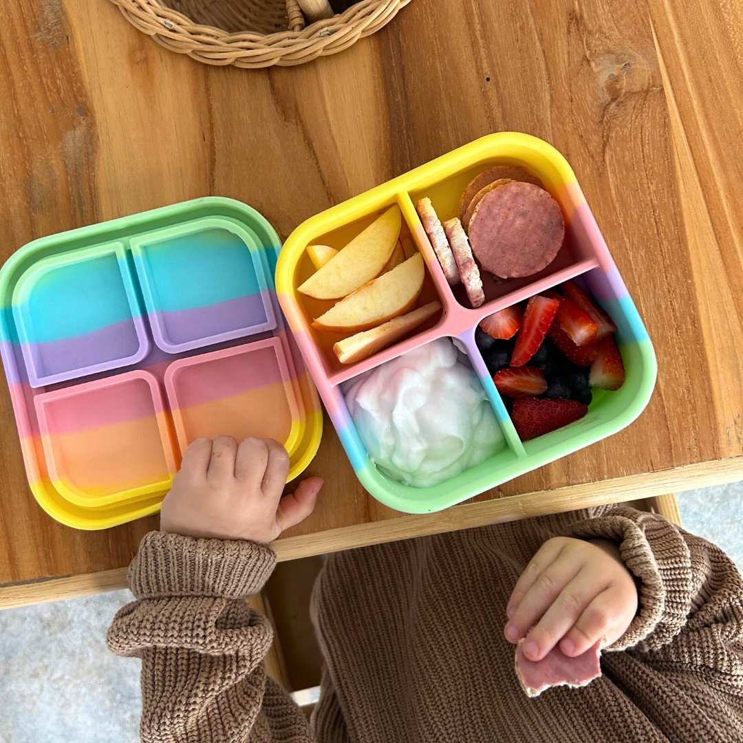
[[[393,204],[362,233],[313,273],[299,291],[313,299],[343,299],[376,278],[392,256],[400,237],[402,216]]]

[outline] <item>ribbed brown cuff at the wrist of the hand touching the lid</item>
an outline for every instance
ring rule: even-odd
[[[151,531],[129,565],[129,588],[137,599],[245,598],[261,590],[275,565],[273,550],[255,542]]]

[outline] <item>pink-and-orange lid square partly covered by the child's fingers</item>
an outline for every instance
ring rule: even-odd
[[[181,454],[196,438],[273,438],[291,456],[302,440],[299,410],[278,338],[174,361],[165,387]]]

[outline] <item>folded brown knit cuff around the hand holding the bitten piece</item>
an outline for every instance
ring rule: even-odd
[[[674,525],[654,513],[617,507],[576,522],[565,536],[617,542],[626,568],[640,580],[637,616],[611,650],[643,649],[654,632],[653,644],[662,644],[681,631],[690,606],[691,557]]]

